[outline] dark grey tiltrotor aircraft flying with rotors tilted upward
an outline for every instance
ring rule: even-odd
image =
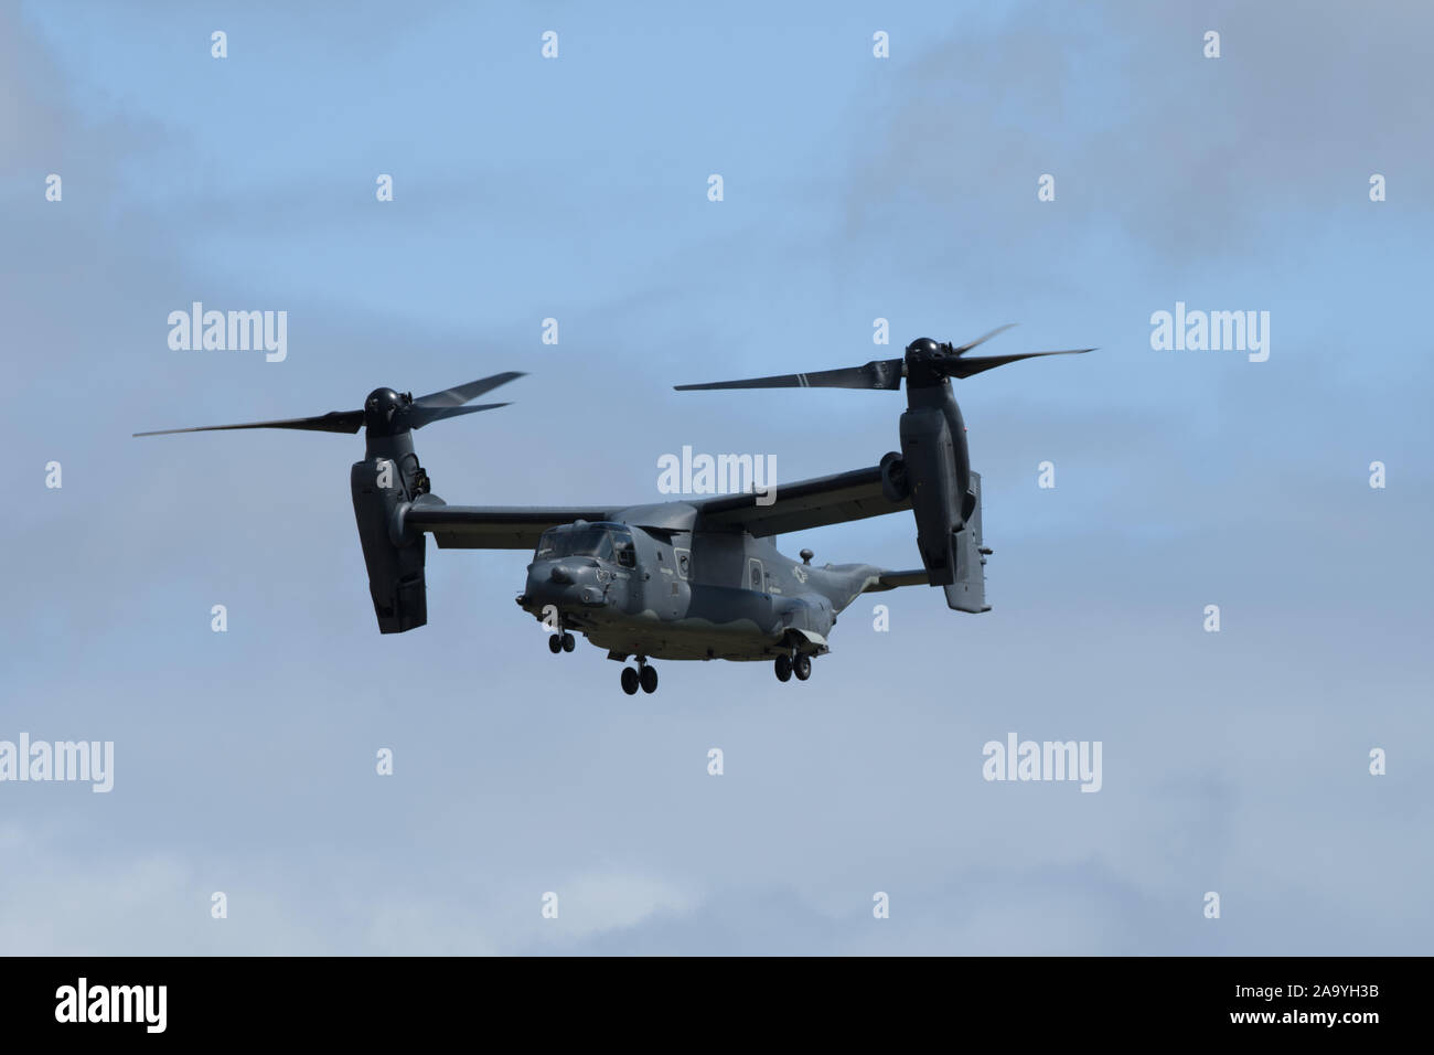
[[[576,630],[622,667],[622,689],[657,690],[652,659],[771,660],[783,682],[812,676],[837,614],[863,593],[941,586],[958,611],[989,611],[981,543],[981,477],[951,392],[969,378],[1020,359],[1067,352],[967,356],[984,340],[952,346],[912,342],[901,359],[817,373],[789,373],[690,389],[901,389],[901,452],[878,465],[754,492],[655,505],[449,505],[432,494],[413,451],[413,431],[506,403],[467,403],[521,373],[498,373],[414,399],[374,389],[361,411],[317,418],[136,432],[136,436],[222,429],[364,429],[364,459],[350,472],[354,518],[381,633],[427,622],[424,535],[442,550],[533,550],[518,604],[551,630],[554,653],[572,652]],[[776,535],[911,510],[921,568],[812,564],[777,553]]]

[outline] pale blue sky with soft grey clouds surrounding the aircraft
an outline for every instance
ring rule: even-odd
[[[0,738],[116,777],[0,785],[0,950],[1427,952],[1428,13],[1153,7],[6,4]],[[192,300],[287,310],[287,360],[171,350]],[[1268,310],[1269,360],[1153,352],[1177,300]],[[439,494],[655,501],[688,444],[898,446],[893,393],[671,385],[1007,322],[1100,352],[958,385],[994,610],[859,603],[802,686],[624,696],[519,553],[430,550],[380,637],[358,439],[129,439],[515,369],[419,433]],[[916,563],[902,517],[803,545]],[[1101,741],[1103,789],[987,784],[1010,731]]]

